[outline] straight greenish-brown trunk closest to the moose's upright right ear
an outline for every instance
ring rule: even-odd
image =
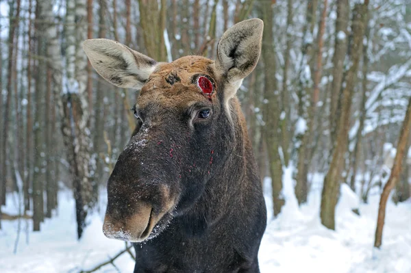
[[[284,205],[282,196],[282,161],[279,156],[279,95],[277,92],[277,79],[273,77],[276,72],[275,51],[273,47],[273,8],[271,1],[261,3],[262,19],[264,21],[264,34],[262,40],[262,60],[264,62],[264,140],[269,155],[269,170],[273,187],[273,211],[277,216]]]

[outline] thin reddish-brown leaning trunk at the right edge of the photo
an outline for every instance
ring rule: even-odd
[[[377,218],[377,229],[375,230],[375,242],[374,246],[379,248],[382,245],[382,230],[384,229],[385,221],[385,211],[388,196],[390,195],[391,190],[395,187],[397,183],[399,174],[401,173],[403,157],[406,156],[406,146],[408,135],[411,130],[411,98],[408,101],[408,108],[406,112],[406,118],[404,118],[403,126],[401,127],[401,133],[399,135],[399,140],[397,144],[397,154],[395,155],[394,165],[391,169],[390,178],[388,179],[384,190],[381,194],[381,199],[379,200],[378,208],[378,218]]]

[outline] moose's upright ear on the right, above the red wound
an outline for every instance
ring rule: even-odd
[[[216,72],[233,88],[229,88],[230,99],[256,67],[261,52],[262,29],[264,23],[258,19],[249,19],[237,23],[225,31],[217,46]]]

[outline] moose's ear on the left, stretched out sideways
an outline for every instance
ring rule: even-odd
[[[121,88],[142,88],[157,65],[151,57],[113,40],[85,40],[83,49],[97,73]]]

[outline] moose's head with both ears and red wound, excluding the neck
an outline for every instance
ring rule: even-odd
[[[112,40],[84,42],[102,77],[122,88],[141,88],[136,129],[108,181],[107,237],[155,237],[192,208],[221,172],[238,122],[229,101],[258,62],[262,26],[251,19],[228,29],[215,62],[186,56],[157,63]]]

